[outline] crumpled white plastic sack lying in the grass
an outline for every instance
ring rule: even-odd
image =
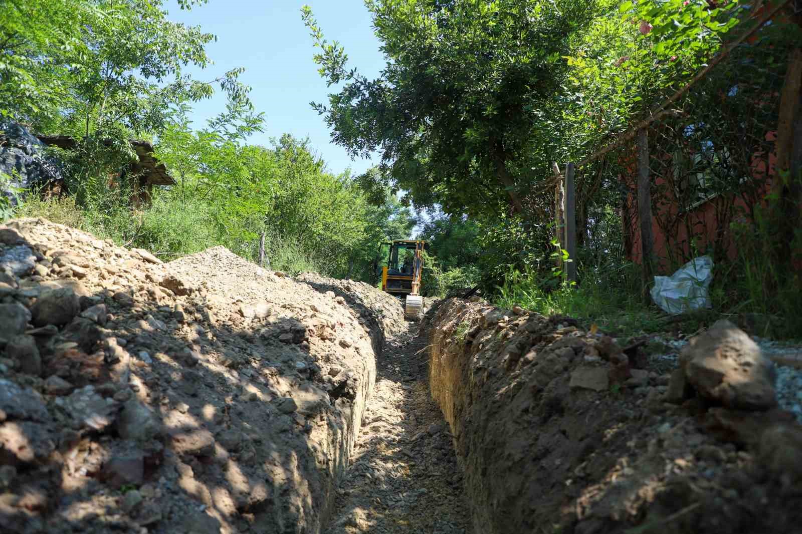
[[[691,309],[710,308],[707,288],[712,279],[712,258],[709,256],[694,258],[670,277],[654,277],[652,300],[669,314],[683,314]]]

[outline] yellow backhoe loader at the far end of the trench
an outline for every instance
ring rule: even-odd
[[[396,240],[383,243],[379,249],[380,255],[389,249],[387,265],[382,267],[382,290],[404,296],[404,314],[409,319],[420,318],[423,313],[420,290],[426,246],[426,241]]]

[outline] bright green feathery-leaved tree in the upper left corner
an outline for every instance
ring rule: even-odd
[[[180,0],[182,8],[205,0]],[[168,20],[163,0],[8,0],[0,18],[0,112],[45,133],[79,140],[70,187],[79,204],[103,196],[108,172],[136,157],[128,140],[152,138],[181,103],[208,98],[217,84],[249,110],[242,69],[212,81],[205,68],[214,38]]]

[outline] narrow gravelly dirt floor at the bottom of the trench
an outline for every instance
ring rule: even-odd
[[[326,534],[464,534],[470,513],[419,326],[388,338]]]

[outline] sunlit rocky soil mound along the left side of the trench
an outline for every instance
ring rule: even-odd
[[[359,287],[0,226],[0,531],[320,532],[402,314]]]

